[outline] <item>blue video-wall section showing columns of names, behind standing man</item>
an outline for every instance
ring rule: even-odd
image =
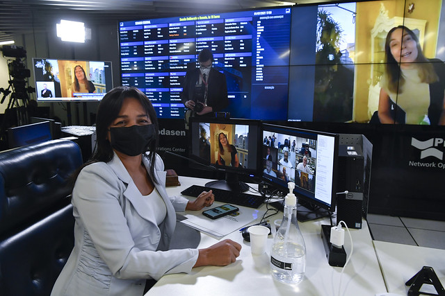
[[[138,87],[160,118],[183,118],[179,94],[197,53],[211,49],[235,118],[287,120],[291,8],[122,21],[122,85]]]

